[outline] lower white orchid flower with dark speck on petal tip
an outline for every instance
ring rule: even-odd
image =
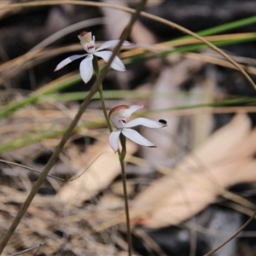
[[[113,148],[114,153],[119,150],[119,136],[122,133],[125,137],[128,137],[134,143],[139,145],[156,148],[154,143],[149,142],[145,137],[140,135],[137,131],[130,128],[137,125],[143,125],[149,128],[161,128],[167,126],[166,121],[160,119],[159,121],[154,121],[146,118],[137,118],[129,121],[131,114],[136,112],[138,109],[143,108],[144,106],[126,106],[119,105],[115,108],[112,108],[108,113],[108,118],[110,119],[112,125],[117,128],[116,131],[111,132],[109,136],[109,144]]]

